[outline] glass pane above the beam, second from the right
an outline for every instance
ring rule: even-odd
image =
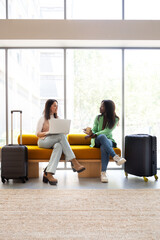
[[[67,19],[122,19],[122,0],[67,0]]]

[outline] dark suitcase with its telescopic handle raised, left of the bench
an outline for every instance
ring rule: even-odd
[[[13,144],[13,112],[20,112],[20,144]],[[22,111],[11,111],[11,144],[2,147],[1,180],[28,180],[28,149],[22,145]]]

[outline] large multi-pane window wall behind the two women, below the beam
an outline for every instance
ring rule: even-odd
[[[112,99],[120,117],[113,137],[122,149],[122,50],[66,49],[66,67],[64,51],[44,48],[7,50],[9,142],[12,109],[23,111],[23,133],[34,133],[46,100],[57,99],[59,116],[64,118],[66,112],[66,117],[72,120],[71,133],[83,133],[83,128],[93,126],[101,101]],[[143,133],[157,136],[160,167],[160,50],[125,49],[124,59],[124,135]],[[4,50],[0,50],[0,102],[0,144],[4,145]],[[15,114],[15,142],[19,134],[18,118]]]

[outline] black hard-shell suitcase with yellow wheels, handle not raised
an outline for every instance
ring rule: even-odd
[[[157,138],[148,134],[133,134],[125,137],[125,173],[157,180]]]

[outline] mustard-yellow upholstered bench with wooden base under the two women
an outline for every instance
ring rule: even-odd
[[[101,153],[99,148],[91,148],[90,139],[85,139],[85,134],[69,134],[68,142],[76,155],[77,160],[86,168],[85,171],[78,173],[79,177],[100,177],[101,172]],[[39,162],[48,162],[53,149],[39,148],[37,146],[37,136],[22,135],[22,142],[28,148],[28,177],[39,177]],[[18,143],[20,137],[18,137]],[[119,148],[113,148],[116,154],[121,156]],[[64,161],[62,155],[61,160]],[[110,161],[113,161],[110,157]]]

